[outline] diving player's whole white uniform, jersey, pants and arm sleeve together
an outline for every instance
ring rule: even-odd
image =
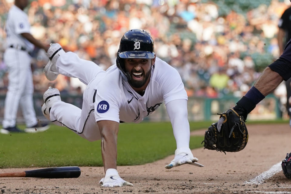
[[[101,139],[98,121],[141,122],[165,102],[177,148],[189,147],[188,97],[179,73],[161,59],[156,58],[142,96],[122,79],[116,65],[104,71],[94,62],[67,52],[57,60],[56,70],[79,78],[87,85],[82,109],[62,101],[52,106],[50,120],[56,125],[66,126],[81,137],[96,141]]]

